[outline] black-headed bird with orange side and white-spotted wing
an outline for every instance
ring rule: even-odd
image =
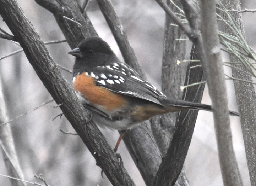
[[[168,98],[121,62],[100,37],[87,37],[68,53],[76,57],[73,89],[78,100],[98,126],[121,131],[114,152],[128,129],[153,116],[187,109],[213,111],[210,105]]]

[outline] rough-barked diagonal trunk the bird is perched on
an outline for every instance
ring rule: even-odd
[[[135,185],[99,129],[92,121],[86,123],[90,118],[88,111],[83,108],[70,85],[60,74],[43,41],[17,2],[15,0],[0,0],[0,2],[2,18],[55,102],[63,103],[60,106],[61,110],[96,159],[97,165],[102,168],[113,185]]]

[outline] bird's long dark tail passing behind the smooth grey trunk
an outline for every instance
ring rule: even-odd
[[[211,105],[205,105],[201,103],[193,103],[189,101],[182,101],[182,100],[174,100],[174,99],[166,99],[159,100],[161,104],[163,104],[169,112],[175,112],[179,110],[186,110],[186,109],[195,109],[195,110],[206,110],[206,111],[213,111]],[[239,116],[239,113],[229,111],[231,116]]]

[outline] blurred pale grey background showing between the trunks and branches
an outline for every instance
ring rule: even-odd
[[[34,0],[17,0],[28,19],[43,41],[65,39],[53,15],[40,7]],[[165,13],[153,0],[112,0],[116,13],[134,48],[138,62],[145,71],[148,80],[160,87],[160,73],[163,51]],[[242,0],[242,9],[256,9],[255,0]],[[88,16],[99,36],[109,43],[122,60],[120,51],[111,35],[102,13],[96,2],[92,1],[87,9]],[[243,13],[243,21],[248,44],[256,49],[256,13]],[[0,27],[9,31],[4,22]],[[187,42],[187,59],[191,43]],[[72,70],[74,57],[67,54],[70,50],[67,43],[47,45],[55,63]],[[0,39],[0,57],[20,49],[15,43]],[[223,61],[228,58],[223,54]],[[176,63],[176,62],[174,62]],[[225,69],[231,74],[230,69]],[[61,70],[71,84],[72,74]],[[37,77],[23,52],[0,61],[0,76],[4,89],[9,119],[15,118],[38,105],[51,100],[51,96]],[[229,109],[237,111],[233,82],[227,81]],[[207,87],[202,103],[211,104]],[[54,108],[55,102],[40,107],[10,123],[16,150],[25,180],[36,181],[35,174],[42,173],[51,186],[109,186],[107,178],[100,175],[101,169],[96,166],[93,156],[78,136],[63,134],[75,133],[65,116],[52,119],[61,113]],[[245,186],[250,185],[247,169],[243,136],[239,117],[230,117],[233,132],[234,150]],[[109,144],[114,147],[119,137],[117,131],[102,130]],[[124,165],[138,186],[144,186],[140,173],[133,163],[125,145],[119,147]],[[149,152],[150,153],[150,152]],[[213,117],[210,112],[200,111],[185,161],[185,170],[191,186],[221,186],[222,177],[218,163]],[[7,175],[5,164],[0,153],[0,174]],[[43,184],[43,183],[41,183]],[[0,185],[9,186],[8,178],[0,176]]]

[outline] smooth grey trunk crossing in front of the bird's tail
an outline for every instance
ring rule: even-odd
[[[214,128],[217,139],[220,169],[224,185],[243,185],[232,144],[225,77],[217,33],[216,1],[201,0],[201,28],[205,46],[209,94],[214,109]]]

